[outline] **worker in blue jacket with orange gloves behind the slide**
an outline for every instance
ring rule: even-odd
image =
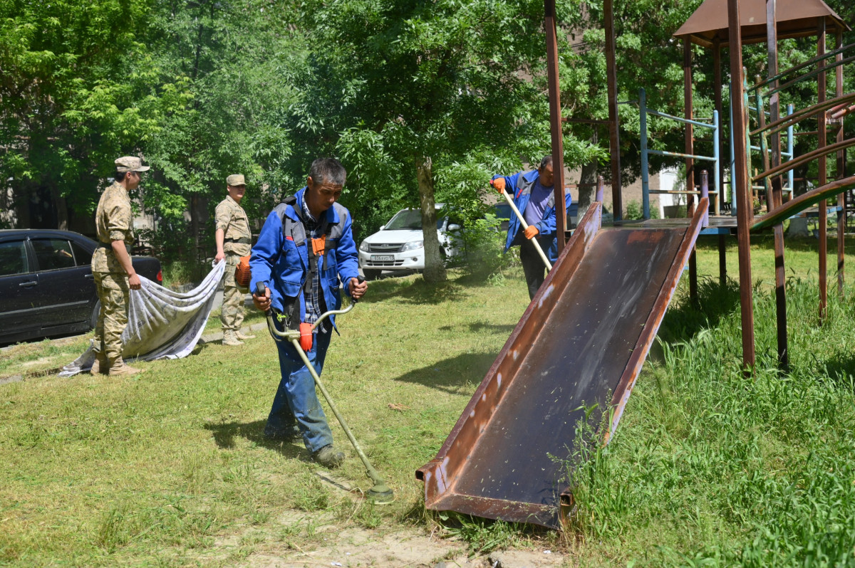
[[[536,170],[518,172],[511,176],[494,176],[490,184],[499,193],[509,191],[514,196],[514,205],[528,224],[525,231],[520,231],[520,220],[516,215],[510,216],[504,251],[507,252],[513,246],[520,247],[520,261],[522,272],[526,275],[528,297],[534,299],[540,284],[543,284],[546,278],[546,265],[534,248],[532,239],[537,238],[540,248],[552,264],[555,264],[558,258],[552,156],[545,155]],[[564,202],[569,208],[571,197],[567,190],[564,190]]]

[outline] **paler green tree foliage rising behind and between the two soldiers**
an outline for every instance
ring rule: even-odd
[[[160,231],[173,237],[164,254],[186,256],[192,247],[204,257],[214,243],[206,221],[225,198],[227,175],[245,174],[242,205],[251,218],[295,184],[286,122],[304,49],[269,2],[175,0],[157,7],[152,48],[165,77],[186,79],[192,101],[147,145],[156,176],[146,200],[158,210]]]

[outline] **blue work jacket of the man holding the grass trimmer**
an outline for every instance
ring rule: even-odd
[[[250,256],[251,290],[255,292],[258,282],[266,282],[271,306],[280,312],[284,310],[286,296],[299,297],[300,321],[306,318],[303,286],[310,274],[310,238],[302,229],[303,224],[297,214],[303,211],[305,191],[304,187],[297,192],[297,203],[293,206],[280,203],[268,215]],[[321,215],[327,216],[331,230],[328,231],[324,253],[327,258],[318,257],[318,270],[321,271],[321,290],[327,310],[333,310],[341,307],[339,277],[345,284],[345,294],[350,296],[351,278],[359,276],[357,244],[351,230],[351,213],[344,206],[333,203],[333,207]],[[286,225],[292,227],[291,234],[286,235],[283,231]],[[334,317],[330,316],[333,326]]]

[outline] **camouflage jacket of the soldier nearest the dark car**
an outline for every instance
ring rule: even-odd
[[[133,245],[131,198],[121,184],[113,182],[101,194],[95,210],[95,227],[98,248],[92,255],[92,272],[120,272],[127,276],[112,247],[113,241],[124,241],[126,249]]]

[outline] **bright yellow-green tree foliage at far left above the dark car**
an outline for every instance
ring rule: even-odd
[[[138,151],[183,106],[183,85],[157,80],[140,42],[147,8],[0,3],[0,178],[17,204],[33,203],[17,208],[21,225],[64,227],[67,203],[88,216],[115,158]]]

